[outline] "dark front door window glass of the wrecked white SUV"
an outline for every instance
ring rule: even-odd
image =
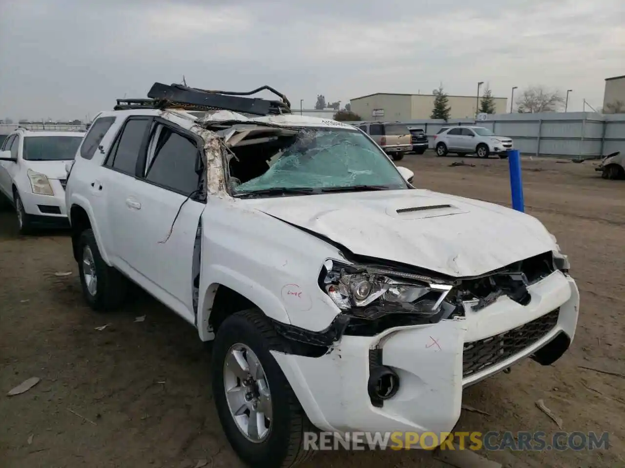
[[[146,170],[148,182],[189,195],[197,190],[199,174],[196,172],[199,150],[192,139],[160,126],[154,133],[154,156]]]

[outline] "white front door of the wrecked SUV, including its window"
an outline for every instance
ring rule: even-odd
[[[196,135],[154,119],[136,186],[123,207],[133,236],[125,253],[129,265],[157,286],[159,300],[192,323],[194,248],[206,207],[201,148]]]

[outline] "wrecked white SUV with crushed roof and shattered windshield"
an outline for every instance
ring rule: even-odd
[[[132,281],[214,341],[243,461],[293,466],[316,428],[449,432],[463,388],[562,356],[579,295],[540,222],[413,187],[355,127],[241,94],[119,100],[66,200],[89,305]]]

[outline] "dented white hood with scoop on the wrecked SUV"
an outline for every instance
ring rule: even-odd
[[[549,232],[529,215],[429,190],[242,201],[326,236],[357,255],[399,261],[450,276],[482,275],[557,248]],[[434,206],[438,208],[427,208]]]

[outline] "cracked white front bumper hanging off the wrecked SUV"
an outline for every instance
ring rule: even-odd
[[[311,422],[323,431],[449,432],[460,416],[462,389],[499,373],[519,359],[548,349],[550,363],[566,350],[575,333],[577,286],[559,271],[527,288],[522,306],[507,296],[486,308],[437,324],[396,328],[372,337],[343,336],[321,358],[272,351]],[[537,341],[495,364],[466,374],[463,352],[470,343],[498,337],[558,310],[557,321]],[[563,341],[558,337],[564,336]],[[554,348],[550,343],[564,343]],[[399,390],[372,404],[367,392],[369,351],[381,349],[382,362],[399,376]],[[542,351],[541,351],[542,352]],[[464,363],[466,368],[466,363]]]

